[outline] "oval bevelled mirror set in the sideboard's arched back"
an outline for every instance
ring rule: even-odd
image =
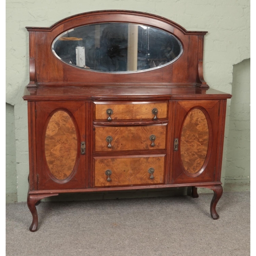
[[[177,60],[181,42],[164,30],[131,23],[100,23],[68,30],[56,37],[57,58],[80,69],[138,72]]]

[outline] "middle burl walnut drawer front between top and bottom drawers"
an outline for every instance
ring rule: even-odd
[[[166,127],[95,126],[95,152],[165,149]]]

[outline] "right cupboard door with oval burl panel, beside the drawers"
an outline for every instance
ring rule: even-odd
[[[215,180],[219,100],[176,102],[172,183]]]

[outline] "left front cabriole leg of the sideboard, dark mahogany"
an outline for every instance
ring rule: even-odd
[[[58,196],[58,194],[28,194],[27,204],[32,214],[33,220],[29,227],[31,232],[35,232],[38,227],[38,215],[36,210],[36,203],[46,197]]]

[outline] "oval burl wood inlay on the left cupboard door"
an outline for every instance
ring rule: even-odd
[[[50,172],[56,179],[65,180],[71,175],[76,162],[77,134],[66,111],[55,112],[48,123],[45,154]]]

